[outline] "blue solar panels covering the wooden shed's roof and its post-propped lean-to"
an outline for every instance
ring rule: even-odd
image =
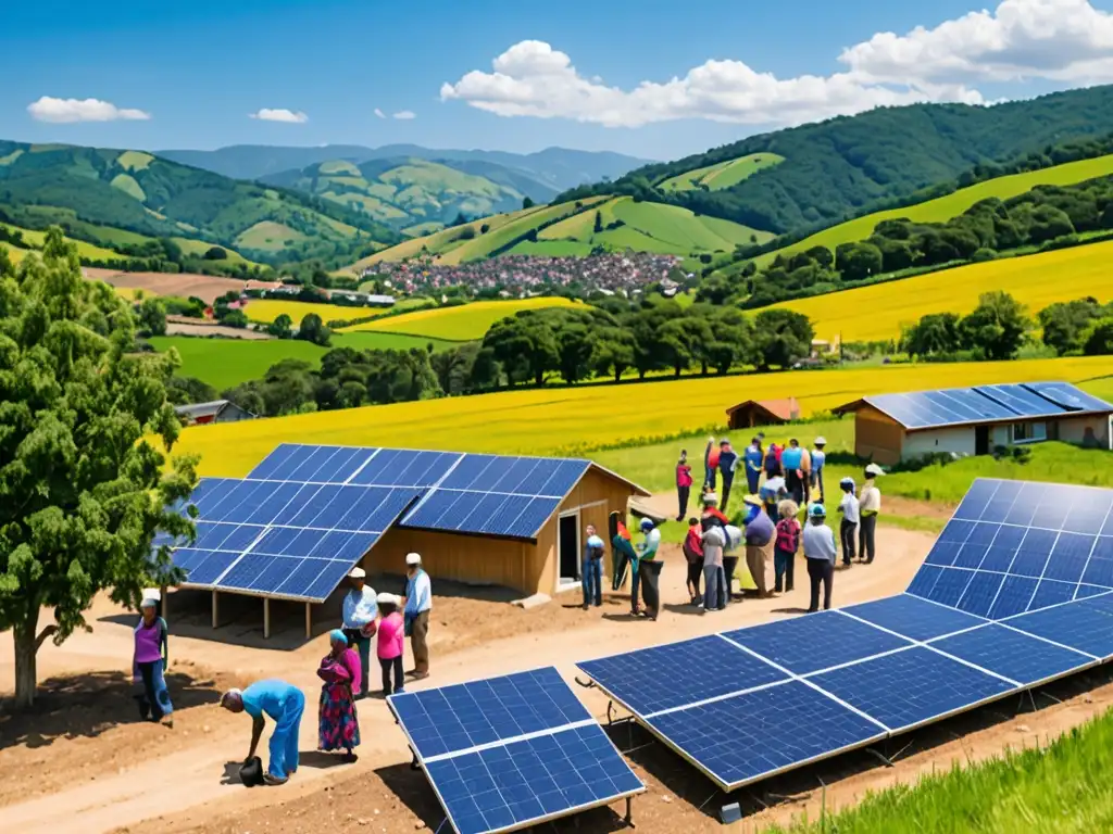
[[[197,540],[174,562],[193,587],[322,602],[395,523],[532,538],[589,466],[283,444],[247,478],[200,481]]]

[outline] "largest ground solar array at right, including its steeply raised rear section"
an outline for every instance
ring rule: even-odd
[[[1113,658],[1111,510],[978,479],[905,594],[578,665],[735,790]]]

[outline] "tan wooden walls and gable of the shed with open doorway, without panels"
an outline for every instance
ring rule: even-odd
[[[436,578],[502,585],[524,595],[556,594],[580,587],[584,529],[594,525],[603,539],[612,512],[626,513],[632,496],[649,496],[626,478],[591,464],[545,520],[535,538],[414,529],[395,525],[368,553],[368,573],[403,573],[405,555],[417,552]],[[604,570],[610,559],[603,560]]]

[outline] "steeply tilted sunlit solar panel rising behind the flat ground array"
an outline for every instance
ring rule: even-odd
[[[1113,588],[1113,489],[979,478],[908,593],[1002,619],[1093,587]]]

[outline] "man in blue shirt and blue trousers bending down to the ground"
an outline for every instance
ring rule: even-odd
[[[252,746],[244,764],[255,758],[255,748],[268,715],[275,723],[270,734],[270,763],[264,781],[268,785],[282,785],[290,774],[297,772],[297,743],[305,712],[305,694],[293,684],[270,678],[257,681],[246,689],[229,689],[220,696],[220,706],[229,713],[247,713],[252,716]]]

